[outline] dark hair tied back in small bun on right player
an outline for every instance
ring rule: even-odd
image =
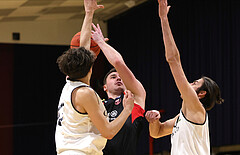
[[[221,98],[220,89],[215,81],[206,76],[202,76],[202,79],[204,82],[202,86],[198,88],[197,93],[206,91],[205,97],[200,99],[200,101],[206,110],[211,110],[215,103],[222,104],[224,100]]]

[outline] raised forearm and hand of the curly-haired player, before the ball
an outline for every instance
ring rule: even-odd
[[[91,45],[91,24],[94,11],[103,8],[103,5],[97,5],[96,0],[84,0],[85,17],[81,29],[80,46],[90,50]]]

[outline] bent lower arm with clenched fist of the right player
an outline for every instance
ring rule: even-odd
[[[147,111],[145,117],[149,122],[149,133],[153,138],[160,138],[172,133],[174,124],[179,115],[175,116],[173,119],[169,119],[166,122],[160,122],[160,113],[156,110]]]

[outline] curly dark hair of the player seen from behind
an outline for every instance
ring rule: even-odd
[[[88,74],[94,61],[95,56],[92,52],[79,47],[65,51],[58,57],[57,64],[60,71],[71,79],[80,79]]]

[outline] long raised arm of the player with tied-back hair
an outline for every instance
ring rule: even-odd
[[[167,17],[170,6],[167,6],[167,0],[158,0],[158,2],[159,17],[161,19],[165,45],[165,56],[171,68],[175,83],[183,98],[182,108],[187,108],[195,112],[204,112],[204,108],[202,107],[195,90],[189,84],[181,65],[180,54],[175,44]]]

